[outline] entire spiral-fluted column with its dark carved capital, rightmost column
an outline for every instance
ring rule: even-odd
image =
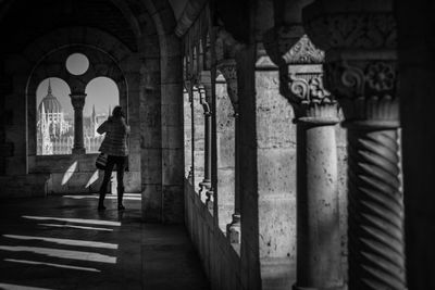
[[[303,11],[348,128],[350,290],[407,289],[391,11],[393,1],[376,0],[321,0]]]

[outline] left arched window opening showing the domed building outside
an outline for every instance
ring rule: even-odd
[[[36,90],[37,155],[71,154],[74,112],[69,85],[58,77],[44,79]]]

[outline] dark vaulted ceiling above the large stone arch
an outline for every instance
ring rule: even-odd
[[[14,1],[1,20],[2,50],[20,50],[48,31],[69,26],[104,30],[132,50],[137,49],[135,31],[126,17],[109,0]]]

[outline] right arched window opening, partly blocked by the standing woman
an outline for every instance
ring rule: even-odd
[[[86,86],[86,94],[83,111],[84,143],[87,153],[97,153],[104,138],[97,133],[97,128],[112,114],[113,108],[120,104],[120,90],[112,79],[97,77]]]

